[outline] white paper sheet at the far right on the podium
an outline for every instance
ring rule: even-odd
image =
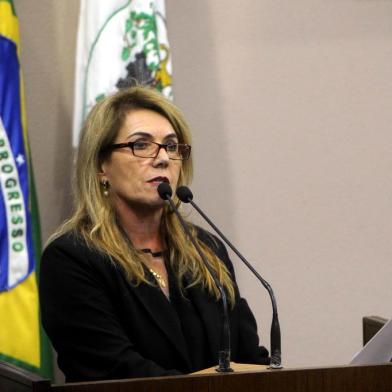
[[[350,364],[365,365],[389,362],[392,358],[392,319],[390,319],[363,347],[354,355]]]

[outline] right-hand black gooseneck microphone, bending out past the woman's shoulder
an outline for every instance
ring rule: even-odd
[[[218,233],[222,240],[233,250],[233,252],[244,262],[244,264],[253,272],[256,278],[261,284],[267,289],[268,294],[271,298],[272,303],[272,323],[271,323],[271,363],[272,369],[282,368],[282,356],[281,356],[281,342],[280,342],[280,325],[278,318],[278,307],[275,300],[275,295],[272,287],[269,283],[264,280],[260,274],[253,268],[253,266],[245,259],[244,256],[235,248],[235,246],[225,237],[225,235],[215,226],[214,223],[208,218],[208,216],[197,206],[193,201],[193,194],[191,190],[186,186],[180,186],[177,189],[177,197],[184,203],[190,203],[195,210],[207,221],[207,223]]]

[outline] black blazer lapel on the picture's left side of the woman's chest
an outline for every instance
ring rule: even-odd
[[[173,309],[169,300],[156,286],[149,286],[141,283],[137,287],[132,287],[139,301],[143,304],[151,318],[157,326],[162,329],[167,338],[182,355],[188,368],[191,363],[188,356],[187,346],[182,333],[181,325],[177,313]]]

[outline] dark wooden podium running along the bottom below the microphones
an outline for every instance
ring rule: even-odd
[[[8,391],[2,388],[4,376],[4,372],[0,374],[1,392]],[[18,390],[10,389],[10,391]],[[27,390],[35,392],[390,392],[392,391],[392,364],[261,370],[64,385],[50,385],[44,380],[36,380],[30,383],[30,389],[23,389],[23,391]]]

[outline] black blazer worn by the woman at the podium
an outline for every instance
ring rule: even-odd
[[[210,246],[234,277],[220,241]],[[268,363],[259,347],[255,318],[238,289],[230,310],[231,359]],[[201,315],[211,365],[217,363],[221,304],[200,287],[187,295]],[[67,382],[189,373],[190,359],[178,318],[165,295],[148,284],[132,285],[122,268],[72,234],[45,249],[40,271],[43,326],[58,353]],[[210,366],[211,366],[210,365]]]

